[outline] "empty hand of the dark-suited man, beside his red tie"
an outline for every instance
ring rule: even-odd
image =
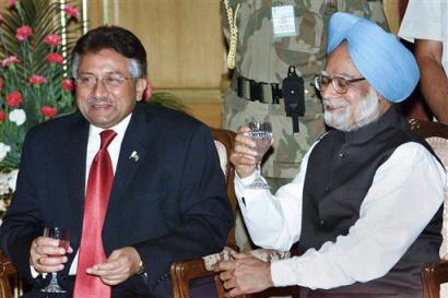
[[[97,275],[109,286],[118,285],[140,270],[140,254],[132,247],[114,250],[106,262],[87,269],[87,273]]]

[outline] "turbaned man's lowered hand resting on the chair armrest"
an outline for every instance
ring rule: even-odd
[[[273,286],[271,264],[249,254],[232,252],[234,261],[223,261],[216,264],[221,281],[227,290],[227,297],[240,294],[262,291]]]

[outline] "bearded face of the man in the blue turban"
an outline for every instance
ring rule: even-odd
[[[339,75],[347,80],[363,76],[350,58],[346,43],[330,53],[326,73],[330,78]],[[365,80],[350,84],[344,94],[335,92],[332,84],[325,86],[320,94],[326,123],[342,131],[355,130],[375,121],[390,107],[390,103],[380,98]]]

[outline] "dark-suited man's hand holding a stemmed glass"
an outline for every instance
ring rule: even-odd
[[[68,259],[66,253],[72,253],[73,249],[58,247],[59,240],[48,237],[37,237],[33,240],[30,249],[30,265],[39,273],[50,273],[63,270]],[[49,257],[51,255],[51,257]]]

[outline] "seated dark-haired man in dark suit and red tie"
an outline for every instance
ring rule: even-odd
[[[79,111],[27,134],[2,249],[33,282],[30,297],[46,295],[52,272],[63,297],[73,287],[82,298],[170,297],[170,263],[220,251],[232,224],[210,132],[181,112],[135,104],[146,52],[127,29],[81,37],[72,72]],[[95,195],[105,199],[93,206]],[[46,226],[69,227],[70,247],[43,237]]]

